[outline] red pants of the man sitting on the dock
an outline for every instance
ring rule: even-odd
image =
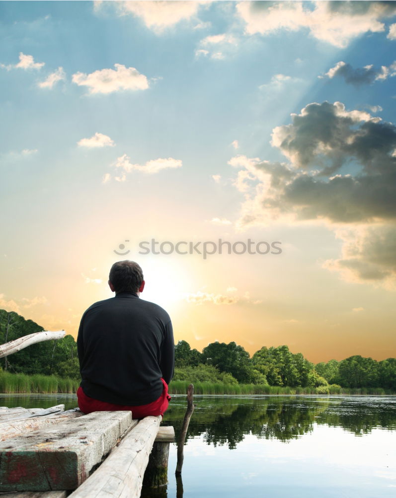
[[[77,398],[79,401],[79,409],[83,413],[91,413],[92,411],[117,411],[117,410],[130,410],[132,411],[132,417],[134,419],[144,418],[149,415],[157,417],[158,415],[163,415],[167,410],[170,396],[168,394],[168,385],[161,378],[163,384],[162,394],[158,399],[148,403],[146,405],[139,406],[128,406],[128,405],[117,405],[113,403],[107,403],[106,401],[99,401],[98,399],[90,398],[87,396],[82,387],[77,389]]]

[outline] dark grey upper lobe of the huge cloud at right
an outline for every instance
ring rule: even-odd
[[[351,159],[365,171],[393,171],[396,158],[396,127],[362,111],[346,111],[340,102],[309,104],[292,124],[278,126],[272,144],[297,168],[317,169],[326,176]]]

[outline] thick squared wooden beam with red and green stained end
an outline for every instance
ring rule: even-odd
[[[0,491],[76,489],[131,424],[130,411],[93,412],[2,441]]]

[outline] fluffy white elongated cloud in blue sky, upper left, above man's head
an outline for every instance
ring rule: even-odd
[[[147,77],[134,67],[114,64],[114,69],[101,69],[90,74],[75,73],[73,83],[86,86],[90,94],[109,94],[120,90],[146,90],[149,88]]]

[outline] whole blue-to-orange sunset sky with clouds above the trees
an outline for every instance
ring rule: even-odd
[[[137,261],[175,341],[396,356],[396,2],[0,1],[0,308]]]

